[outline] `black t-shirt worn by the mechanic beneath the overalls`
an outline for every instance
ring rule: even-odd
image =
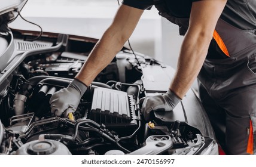
[[[200,0],[165,0],[170,13],[179,18],[190,16],[191,4]],[[141,10],[150,10],[153,0],[123,0],[123,4]],[[228,0],[221,18],[231,25],[243,30],[256,29],[256,1],[255,0]]]

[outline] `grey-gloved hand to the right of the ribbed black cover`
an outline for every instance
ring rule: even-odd
[[[170,89],[165,94],[155,94],[145,98],[141,112],[145,120],[150,120],[153,111],[169,112],[181,101]]]

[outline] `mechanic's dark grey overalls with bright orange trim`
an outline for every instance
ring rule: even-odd
[[[154,2],[160,16],[185,35],[189,18],[172,16],[164,0]],[[220,18],[198,80],[211,121],[225,116],[227,153],[256,154],[256,27],[242,30]]]

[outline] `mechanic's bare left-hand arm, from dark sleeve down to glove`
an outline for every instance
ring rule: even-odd
[[[90,85],[130,38],[142,13],[143,10],[121,5],[111,26],[97,42],[75,78],[87,86]]]

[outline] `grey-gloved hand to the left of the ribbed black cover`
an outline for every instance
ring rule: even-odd
[[[83,82],[74,79],[67,88],[60,89],[50,98],[51,113],[56,116],[68,117],[68,113],[75,112],[87,86]]]

